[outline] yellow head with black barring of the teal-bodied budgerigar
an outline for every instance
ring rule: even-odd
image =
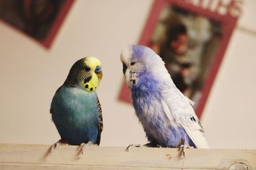
[[[96,57],[84,57],[71,67],[65,85],[80,87],[87,92],[94,92],[102,79],[100,60]]]

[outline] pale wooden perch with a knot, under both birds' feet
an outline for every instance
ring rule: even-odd
[[[0,169],[256,169],[256,150],[0,145]]]

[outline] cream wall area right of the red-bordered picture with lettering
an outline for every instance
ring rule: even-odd
[[[230,40],[202,122],[213,148],[256,149],[256,1],[244,1],[243,14]]]

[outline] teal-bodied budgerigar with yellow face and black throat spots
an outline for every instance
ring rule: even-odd
[[[84,57],[71,67],[51,103],[52,120],[61,136],[53,148],[60,143],[100,144],[102,110],[95,90],[101,79],[100,61],[95,57]]]

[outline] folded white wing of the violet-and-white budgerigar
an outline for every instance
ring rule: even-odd
[[[164,89],[166,90],[163,90],[161,103],[171,124],[180,124],[197,148],[209,148],[204,138],[204,128],[191,106],[191,100],[185,97],[173,82],[168,83]]]

